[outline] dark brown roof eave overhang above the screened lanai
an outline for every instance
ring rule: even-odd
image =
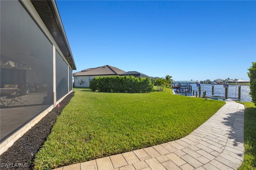
[[[46,25],[47,29],[49,30],[50,34],[54,38],[55,42],[58,44],[64,57],[70,64],[70,67],[73,70],[76,70],[76,64],[68,43],[68,38],[66,37],[66,33],[55,0],[31,0],[31,2],[36,11],[38,12],[40,18]]]

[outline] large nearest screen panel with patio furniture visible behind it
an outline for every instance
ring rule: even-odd
[[[19,1],[1,1],[0,17],[2,142],[53,104],[53,54]]]

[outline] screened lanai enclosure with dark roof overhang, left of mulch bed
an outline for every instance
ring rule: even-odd
[[[1,1],[0,12],[2,153],[72,92],[76,65],[55,1]]]

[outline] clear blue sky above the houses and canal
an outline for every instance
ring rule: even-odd
[[[178,80],[247,79],[256,1],[57,0],[77,70],[111,65]]]

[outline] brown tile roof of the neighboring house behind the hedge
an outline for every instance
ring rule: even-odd
[[[125,71],[118,69],[110,65],[104,65],[102,67],[84,69],[82,71],[73,73],[73,76],[85,76],[85,75],[119,75],[125,73]]]

